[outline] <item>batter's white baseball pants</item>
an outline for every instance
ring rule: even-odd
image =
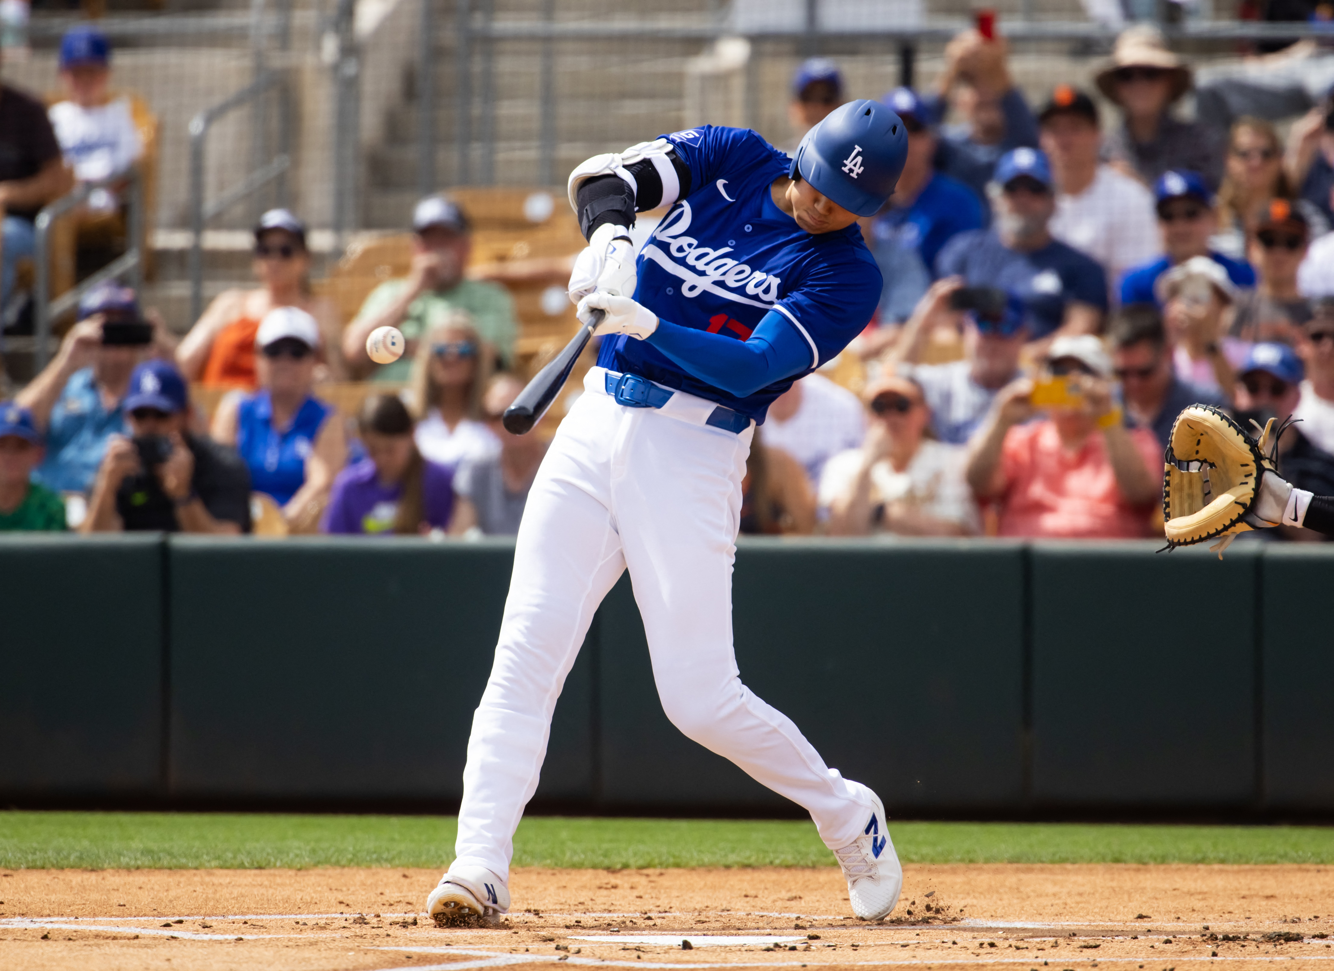
[[[752,431],[706,425],[714,404],[682,392],[660,409],[624,407],[604,375],[588,372],[528,494],[495,664],[472,716],[456,866],[508,878],[556,698],[627,567],[672,724],[806,808],[826,846],[850,844],[870,791],[828,768],[736,668],[732,562]]]

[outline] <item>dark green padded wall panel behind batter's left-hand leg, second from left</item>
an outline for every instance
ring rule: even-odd
[[[511,543],[171,544],[171,792],[447,799],[463,791]],[[587,660],[539,794],[587,800]]]

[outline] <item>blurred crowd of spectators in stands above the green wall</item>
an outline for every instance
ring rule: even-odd
[[[770,408],[742,532],[1161,535],[1163,448],[1195,401],[1301,419],[1281,473],[1334,494],[1334,55],[1295,45],[1198,80],[1137,25],[1090,91],[1035,109],[1003,39],[967,31],[944,55],[931,91],[883,96],[908,153],[862,223],[882,300]],[[105,37],[72,31],[60,65],[69,97],[49,111],[0,92],[5,299],[41,204],[137,151]],[[792,144],[844,100],[835,63],[802,64]],[[346,325],[287,209],[253,228],[256,285],[179,341],[136,293],[88,292],[0,403],[0,530],[512,535],[551,432],[500,423],[523,387],[512,301],[464,272],[471,225],[448,196],[411,232],[408,273]],[[376,365],[384,325],[408,352]],[[319,397],[328,380],[372,385],[355,417]],[[225,395],[205,415],[192,387]]]

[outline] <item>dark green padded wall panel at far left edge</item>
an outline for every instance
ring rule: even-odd
[[[160,790],[157,535],[0,536],[0,790]]]

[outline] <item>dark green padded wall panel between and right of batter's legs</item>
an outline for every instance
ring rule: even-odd
[[[734,583],[742,680],[830,766],[899,810],[1017,806],[1023,556],[1003,543],[744,540]],[[784,804],[667,720],[628,578],[599,624],[608,808]]]

